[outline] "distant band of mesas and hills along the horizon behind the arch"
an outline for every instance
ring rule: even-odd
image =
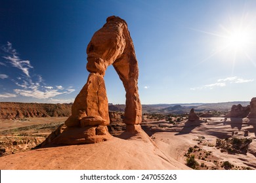
[[[180,103],[142,105],[142,113],[184,114],[194,108],[196,112],[211,110],[230,110],[232,105],[249,105],[249,101],[235,101],[226,103]],[[70,116],[72,103],[7,103],[0,102],[0,119],[33,118],[48,116]],[[111,111],[124,112],[125,105],[108,105]]]

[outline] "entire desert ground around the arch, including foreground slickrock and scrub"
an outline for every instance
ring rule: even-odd
[[[105,142],[35,148],[65,120],[1,120],[0,169],[256,169],[256,122],[247,118],[146,114],[136,135],[116,122]]]

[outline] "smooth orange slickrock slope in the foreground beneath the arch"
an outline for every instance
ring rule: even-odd
[[[128,133],[121,136],[96,144],[40,148],[4,156],[0,169],[189,169],[165,156],[144,131],[132,137]]]

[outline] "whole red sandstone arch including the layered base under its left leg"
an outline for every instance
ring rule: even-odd
[[[47,144],[87,144],[112,138],[107,128],[110,118],[104,82],[109,65],[114,66],[125,88],[123,122],[127,125],[127,132],[136,133],[141,129],[142,106],[137,86],[139,67],[125,20],[117,16],[107,18],[106,24],[96,31],[87,46],[87,61],[90,74],[75,98],[72,115],[66,120],[66,127],[58,129],[56,133],[59,135],[47,139]]]

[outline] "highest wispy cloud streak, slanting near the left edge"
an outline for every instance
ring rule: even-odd
[[[30,64],[29,60],[22,60],[20,59],[17,55],[18,53],[14,48],[12,48],[11,42],[7,42],[6,46],[3,46],[3,49],[5,53],[8,56],[3,56],[3,58],[7,59],[9,63],[11,63],[12,67],[16,67],[22,72],[30,77],[29,69],[33,68],[32,65]]]

